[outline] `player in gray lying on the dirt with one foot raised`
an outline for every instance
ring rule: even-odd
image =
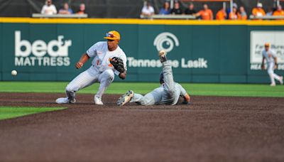
[[[152,92],[149,92],[145,96],[134,93],[132,90],[122,95],[117,105],[122,106],[127,102],[136,102],[142,105],[154,105],[154,104],[169,104],[174,105],[178,103],[179,97],[183,97],[183,104],[190,104],[190,95],[187,94],[185,89],[174,82],[172,66],[166,58],[164,50],[159,52],[160,62],[162,63],[163,71],[160,74],[160,87],[156,88]]]

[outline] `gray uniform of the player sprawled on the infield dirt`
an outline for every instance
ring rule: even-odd
[[[174,82],[172,66],[168,61],[162,63],[163,65],[163,77],[164,83],[160,87],[156,88],[152,92],[149,92],[145,96],[134,93],[134,96],[130,102],[136,102],[142,105],[154,105],[154,104],[168,104],[173,105],[178,103],[180,96],[185,96],[187,92],[185,89]]]

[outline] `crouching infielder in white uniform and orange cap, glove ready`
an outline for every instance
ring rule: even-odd
[[[94,103],[102,105],[102,95],[114,81],[114,74],[122,80],[126,78],[126,55],[119,47],[120,34],[117,31],[109,31],[104,37],[107,41],[101,41],[92,45],[86,53],[82,55],[76,63],[77,69],[82,68],[89,58],[92,60],[92,66],[75,77],[66,87],[66,96],[56,99],[58,104],[75,103],[75,92],[84,87],[99,82],[99,90],[94,96]]]

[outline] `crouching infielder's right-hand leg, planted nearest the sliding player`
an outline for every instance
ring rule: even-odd
[[[114,81],[114,72],[111,69],[105,70],[99,75],[98,80],[100,85],[97,94],[94,96],[94,102],[95,104],[102,105],[102,95],[104,95],[104,91],[107,90],[107,87],[111,85],[111,82]]]

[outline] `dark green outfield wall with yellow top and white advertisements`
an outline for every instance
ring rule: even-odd
[[[82,53],[110,30],[121,33],[128,56],[125,81],[157,82],[164,49],[178,82],[269,82],[260,70],[266,42],[284,75],[283,21],[0,18],[0,80],[72,80],[91,64],[74,68]]]

